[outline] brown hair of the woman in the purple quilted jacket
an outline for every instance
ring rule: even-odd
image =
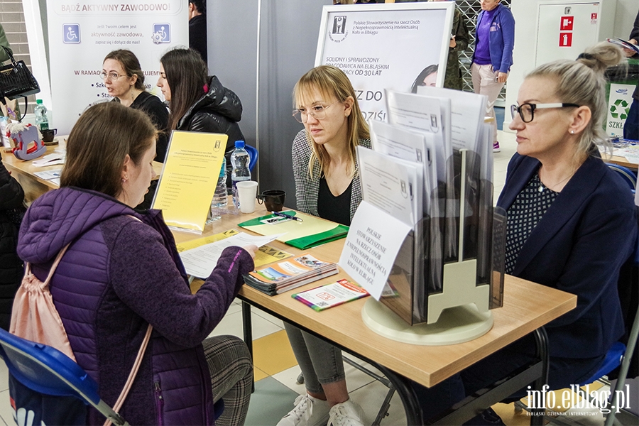
[[[157,138],[146,114],[119,102],[103,102],[84,111],[67,139],[67,160],[60,187],[75,186],[118,197],[128,154],[135,165]]]

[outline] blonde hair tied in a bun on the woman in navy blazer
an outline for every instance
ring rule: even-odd
[[[603,42],[587,48],[577,60],[557,60],[537,67],[526,76],[547,77],[557,84],[561,102],[589,107],[592,117],[577,143],[577,156],[584,158],[592,144],[601,144],[608,137],[603,131],[606,120],[606,80],[603,72],[626,58],[621,48]]]

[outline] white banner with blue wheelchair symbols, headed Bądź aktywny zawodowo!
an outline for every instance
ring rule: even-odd
[[[182,0],[47,0],[53,119],[50,127],[68,134],[89,105],[111,100],[100,78],[102,61],[116,49],[138,57],[147,90],[160,57],[175,45],[188,46],[187,2]],[[161,97],[161,94],[160,94]]]

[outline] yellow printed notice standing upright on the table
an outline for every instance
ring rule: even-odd
[[[169,226],[204,229],[229,136],[173,131],[153,200]]]

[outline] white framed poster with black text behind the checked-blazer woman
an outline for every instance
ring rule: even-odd
[[[365,118],[387,121],[384,89],[442,87],[454,2],[324,6],[315,66],[351,80]]]

